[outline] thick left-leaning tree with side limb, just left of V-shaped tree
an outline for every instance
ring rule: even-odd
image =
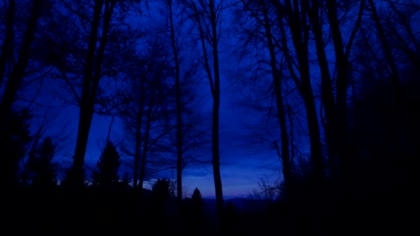
[[[309,20],[307,19],[307,11],[309,9],[306,1],[286,0],[284,3],[282,1],[275,1],[274,3],[280,26],[281,48],[285,53],[287,68],[304,101],[313,167],[312,175],[315,183],[319,183],[325,181],[326,173],[321,147],[321,132],[318,124],[318,114],[316,112],[311,72],[309,69],[310,28]],[[289,26],[289,31],[286,31],[286,25]],[[291,48],[288,46],[287,32],[292,36],[296,61],[294,61],[290,53]]]

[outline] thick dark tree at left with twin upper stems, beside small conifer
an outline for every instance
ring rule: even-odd
[[[101,92],[99,81],[104,75],[115,75],[115,71],[104,69],[106,63],[112,62],[113,59],[113,57],[106,55],[105,52],[110,50],[108,43],[113,42],[115,39],[110,37],[110,35],[114,32],[116,23],[124,24],[124,17],[120,16],[125,16],[125,14],[119,14],[120,11],[126,11],[126,7],[130,6],[131,1],[95,0],[93,3],[83,1],[63,1],[62,3],[66,7],[67,12],[73,14],[73,17],[77,16],[77,21],[83,22],[79,25],[80,30],[82,32],[88,31],[87,37],[84,38],[86,41],[79,42],[81,43],[79,46],[82,46],[81,51],[84,52],[82,54],[84,55],[84,60],[79,64],[80,67],[78,68],[78,72],[82,74],[82,91],[77,100],[79,105],[79,126],[73,166],[66,176],[71,186],[82,186],[84,182],[84,156],[86,154],[90,124],[95,112],[97,96]],[[79,8],[88,11],[79,12],[77,10]],[[117,22],[113,21],[113,19]],[[86,26],[88,26],[88,30]],[[118,42],[115,43],[118,45]],[[61,75],[66,81],[69,81],[65,71],[61,70]],[[73,91],[75,91],[74,88]]]

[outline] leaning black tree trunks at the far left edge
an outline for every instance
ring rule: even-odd
[[[0,88],[3,91],[0,100],[0,145],[4,145],[1,149],[8,153],[5,155],[4,160],[6,169],[4,171],[4,177],[1,177],[1,181],[5,181],[7,186],[13,186],[17,181],[17,171],[19,170],[19,159],[23,158],[26,150],[25,146],[28,144],[28,110],[17,111],[13,107],[17,100],[17,92],[21,88],[23,78],[26,76],[26,69],[30,61],[31,46],[35,33],[37,31],[37,23],[42,16],[44,8],[48,6],[48,3],[44,1],[30,1],[29,11],[23,11],[28,14],[28,17],[24,16],[26,23],[25,28],[22,31],[20,48],[16,50],[15,54],[15,14],[17,13],[16,1],[4,1],[3,7],[6,11],[6,33],[2,44],[2,50],[0,55]],[[8,70],[6,70],[8,68]],[[6,77],[6,81],[4,78]],[[3,83],[5,83],[4,88]],[[21,124],[19,124],[21,122]],[[21,126],[21,127],[19,127]],[[11,135],[11,136],[10,136]],[[13,136],[17,135],[17,136]],[[20,146],[20,147],[19,147]],[[10,149],[9,149],[10,148]],[[17,150],[15,150],[17,148]],[[19,150],[20,149],[20,150]],[[10,152],[7,152],[9,150]]]

